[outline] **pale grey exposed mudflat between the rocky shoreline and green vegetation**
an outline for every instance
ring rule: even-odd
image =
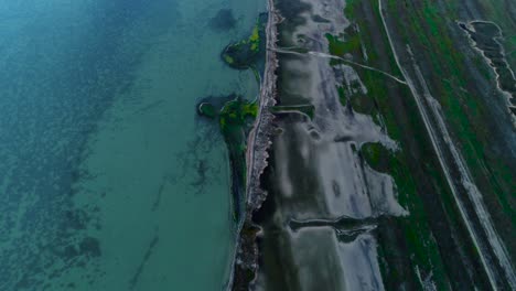
[[[303,24],[289,26],[288,35],[280,35],[279,43],[313,53],[277,52],[277,100],[282,106],[310,104],[315,110],[313,118],[295,112],[276,118],[281,132],[272,139],[273,174],[264,175],[275,208],[265,206],[268,214],[260,222],[264,266],[258,270],[256,289],[383,289],[377,242],[370,231],[376,219],[408,212],[397,202],[393,177],[368,166],[358,151],[373,142],[397,151],[397,143],[370,116],[340,101],[338,84],[350,84],[348,89],[351,84],[361,84],[354,68],[345,64],[331,66],[329,58],[314,54],[329,53],[325,33],[336,34],[350,24],[340,12],[342,2],[304,6],[311,8],[295,15]],[[367,90],[365,86],[362,89]],[[331,220],[341,217],[364,220],[365,225],[340,229]],[[291,229],[289,224],[294,220],[327,223],[298,224]],[[275,261],[281,261],[281,267]],[[352,262],[354,268],[350,269]],[[281,276],[276,274],[280,269]]]

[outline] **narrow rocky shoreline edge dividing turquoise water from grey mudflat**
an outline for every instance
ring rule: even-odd
[[[273,0],[268,0],[268,20],[266,26],[266,64],[260,86],[259,109],[252,130],[247,140],[247,183],[246,211],[238,223],[235,254],[232,263],[227,290],[248,290],[256,279],[258,269],[258,248],[256,245],[259,226],[252,222],[252,215],[261,207],[267,192],[260,187],[260,176],[268,165],[268,150],[273,131],[273,115],[269,110],[276,104],[278,60],[275,52],[280,17]]]

